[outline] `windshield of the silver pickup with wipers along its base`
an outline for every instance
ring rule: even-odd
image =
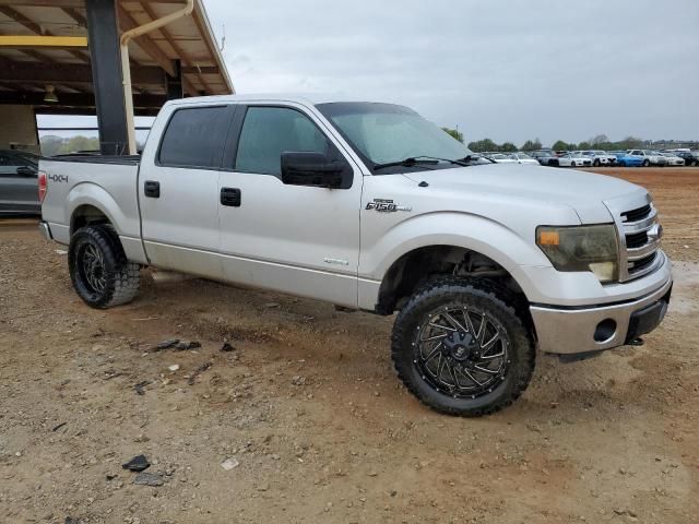
[[[405,158],[462,159],[473,153],[439,127],[407,107],[375,103],[319,104],[318,109],[350,142],[365,163],[376,165]],[[396,171],[459,167],[448,162],[396,166]],[[381,172],[391,172],[384,170]]]

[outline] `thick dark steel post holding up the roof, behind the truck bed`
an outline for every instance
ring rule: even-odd
[[[85,2],[99,150],[103,155],[127,154],[129,143],[116,2]]]

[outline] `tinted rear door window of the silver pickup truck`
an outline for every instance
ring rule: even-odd
[[[158,162],[173,167],[221,167],[228,127],[228,108],[178,109],[167,124]]]

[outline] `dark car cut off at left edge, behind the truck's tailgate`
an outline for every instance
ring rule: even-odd
[[[37,166],[12,152],[0,152],[0,214],[40,214]]]

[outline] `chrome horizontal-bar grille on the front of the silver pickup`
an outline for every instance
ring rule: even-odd
[[[647,194],[636,205],[625,200],[605,202],[618,230],[620,282],[647,275],[662,263],[657,250],[663,228],[650,195]]]

